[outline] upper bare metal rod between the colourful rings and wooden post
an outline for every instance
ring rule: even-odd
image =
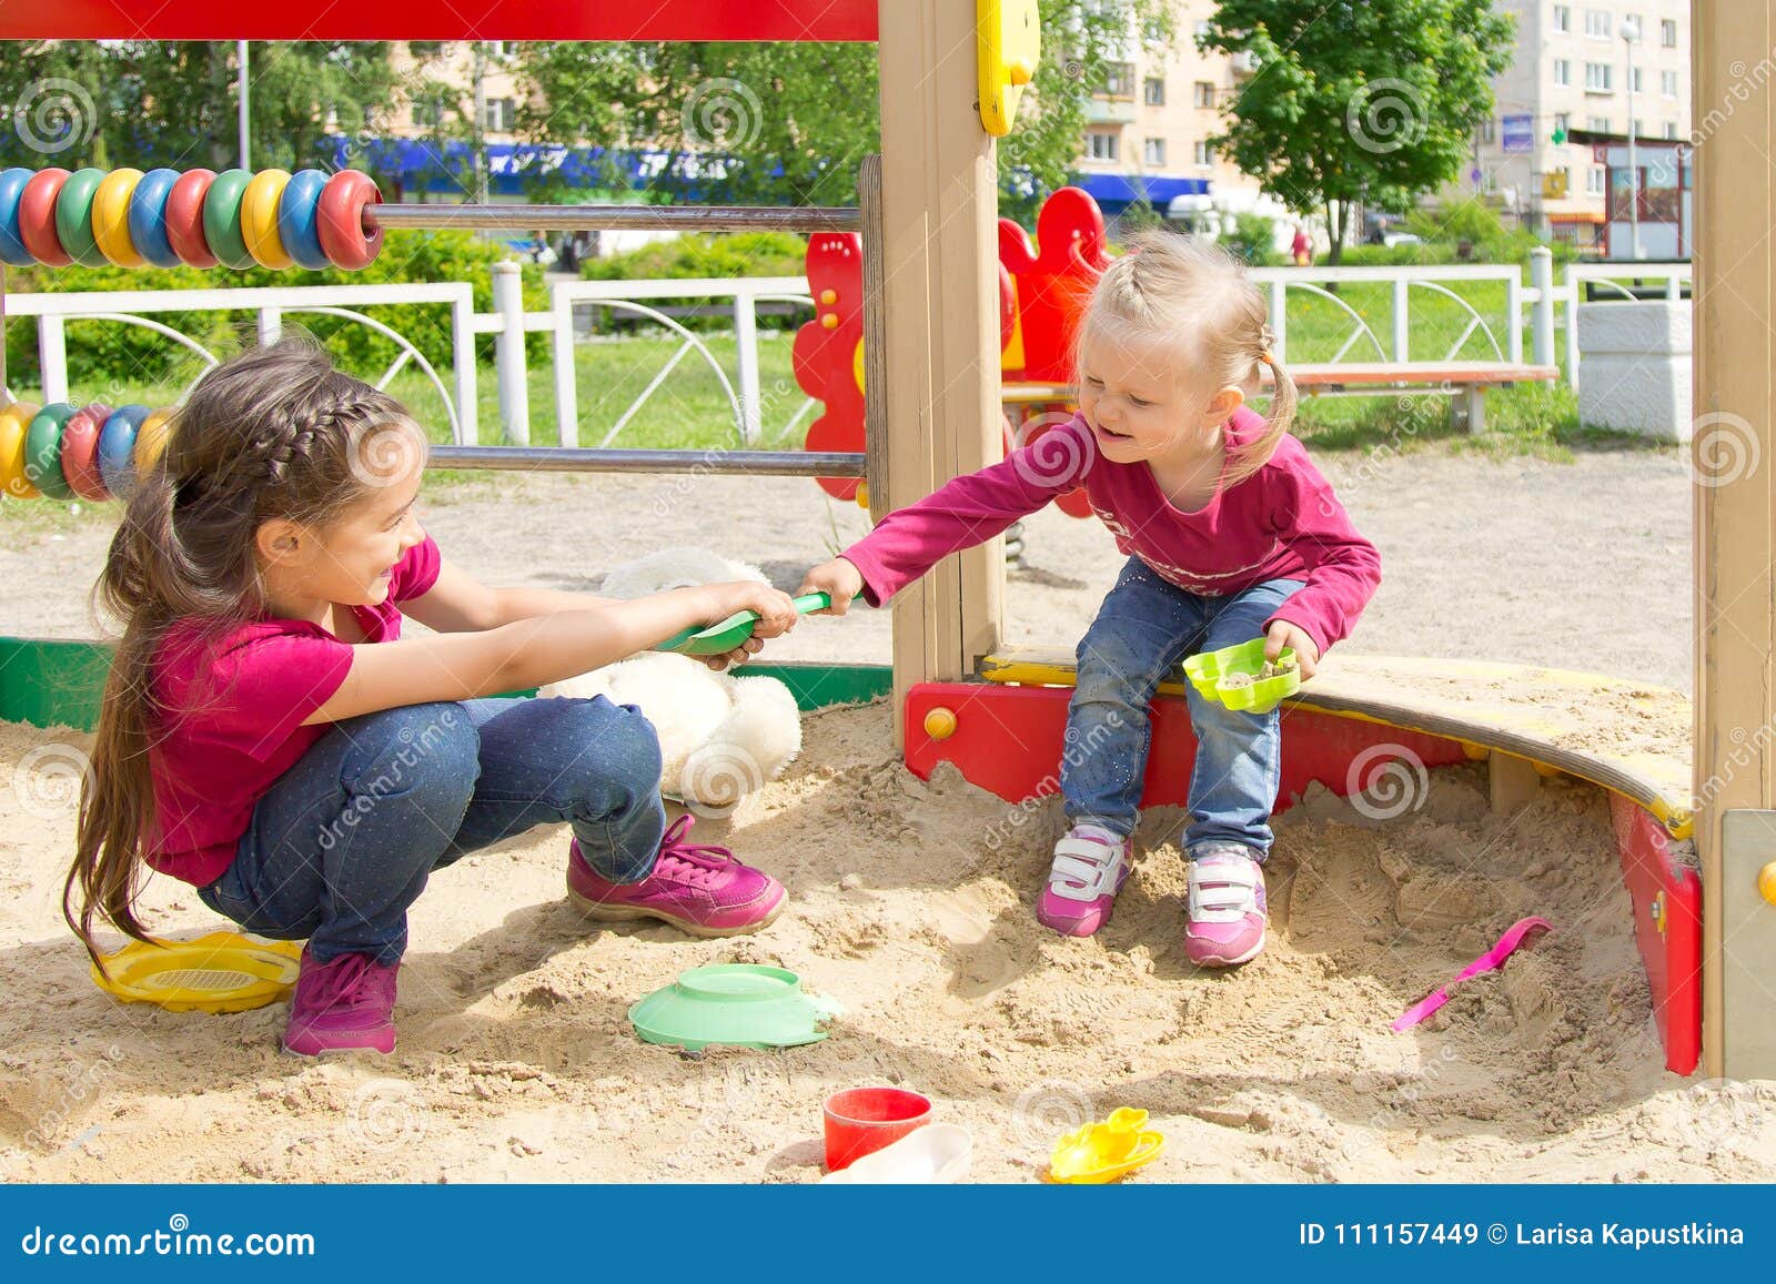
[[[364,229],[504,227],[511,231],[854,233],[863,215],[844,206],[634,204],[373,204]]]

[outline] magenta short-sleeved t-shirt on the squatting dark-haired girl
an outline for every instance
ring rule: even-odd
[[[439,577],[428,535],[408,549],[378,606],[353,606],[371,643],[401,636],[396,602],[423,597]],[[327,703],[352,670],[352,646],[307,620],[256,620],[213,646],[194,646],[194,629],[167,630],[155,694],[170,710],[149,748],[156,833],[147,863],[194,886],[222,877],[252,808],[321,735],[304,719]],[[183,710],[183,712],[179,712]]]

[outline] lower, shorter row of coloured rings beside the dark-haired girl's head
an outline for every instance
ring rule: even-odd
[[[146,405],[0,408],[0,494],[9,499],[128,499],[167,449],[172,410]]]

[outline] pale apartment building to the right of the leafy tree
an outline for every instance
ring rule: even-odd
[[[1517,16],[1517,59],[1494,82],[1497,105],[1476,137],[1467,190],[1492,194],[1506,218],[1538,236],[1600,249],[1611,153],[1595,135],[1625,142],[1632,128],[1637,140],[1662,144],[1636,156],[1643,192],[1687,181],[1687,167],[1675,163],[1682,147],[1671,140],[1687,140],[1693,128],[1689,4],[1499,0],[1499,7]],[[1618,160],[1618,185],[1625,172]],[[1657,247],[1653,256],[1662,258]]]

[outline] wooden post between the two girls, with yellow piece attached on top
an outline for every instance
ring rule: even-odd
[[[1000,458],[998,170],[977,107],[975,5],[883,0],[883,321],[888,494],[924,499]],[[947,558],[893,602],[895,744],[916,682],[961,678],[998,646],[1002,540]]]

